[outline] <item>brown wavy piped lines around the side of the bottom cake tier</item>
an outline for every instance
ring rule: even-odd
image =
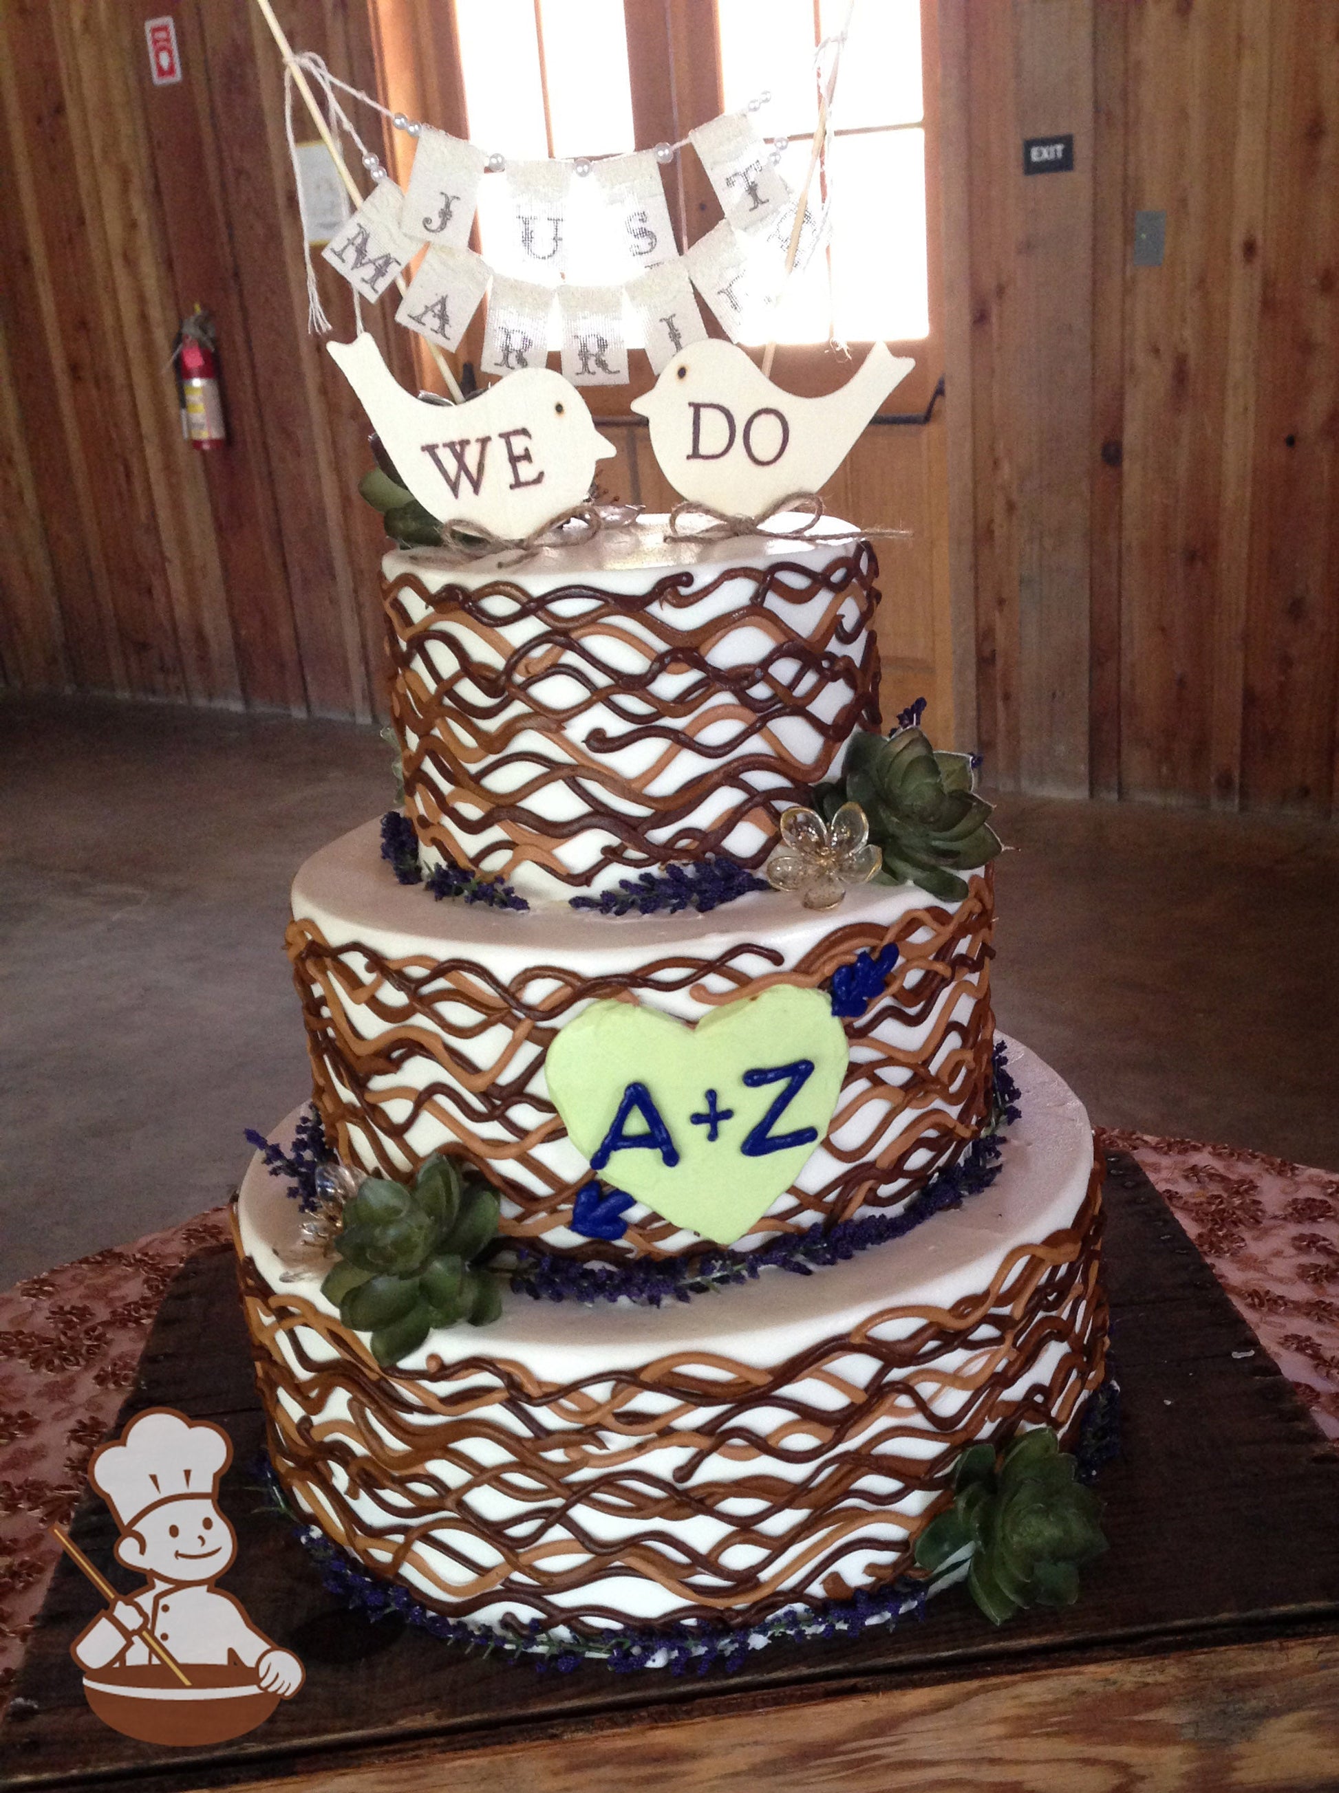
[[[1106,1311],[1097,1286],[1098,1230],[1095,1180],[1075,1226],[1052,1234],[1041,1246],[1016,1248],[996,1271],[991,1289],[951,1309],[890,1309],[871,1316],[858,1341],[858,1348],[874,1359],[871,1382],[863,1390],[845,1377],[826,1384],[851,1391],[845,1413],[813,1408],[786,1395],[786,1390],[822,1373],[827,1361],[847,1361],[856,1341],[831,1339],[811,1347],[775,1366],[761,1382],[752,1366],[700,1354],[702,1368],[725,1370],[725,1391],[714,1379],[707,1379],[702,1390],[686,1390],[687,1400],[696,1404],[687,1429],[696,1451],[693,1476],[711,1456],[734,1460],[743,1445],[759,1461],[777,1451],[779,1461],[808,1463],[808,1474],[799,1483],[759,1472],[695,1479],[686,1486],[680,1476],[668,1481],[657,1477],[644,1449],[634,1463],[610,1467],[610,1456],[623,1449],[617,1445],[610,1452],[610,1429],[626,1429],[632,1420],[626,1402],[610,1415],[608,1397],[601,1395],[587,1402],[585,1415],[576,1418],[571,1402],[587,1388],[608,1388],[610,1381],[628,1390],[630,1399],[632,1391],[661,1395],[666,1388],[678,1388],[684,1381],[682,1354],[673,1364],[662,1361],[643,1372],[605,1373],[564,1388],[535,1382],[515,1364],[476,1354],[449,1366],[449,1372],[438,1366],[438,1386],[433,1386],[427,1375],[381,1372],[361,1339],[337,1321],[318,1314],[298,1296],[267,1289],[251,1264],[242,1275],[280,1476],[302,1504],[321,1513],[330,1535],[363,1562],[379,1563],[379,1572],[395,1572],[413,1562],[415,1571],[436,1585],[442,1610],[456,1615],[494,1603],[503,1590],[546,1623],[612,1621],[621,1615],[603,1608],[594,1594],[576,1614],[556,1596],[585,1587],[598,1590],[610,1574],[635,1572],[673,1594],[675,1619],[725,1614],[747,1624],[797,1594],[813,1598],[820,1592],[824,1578],[849,1553],[851,1540],[867,1528],[883,1533],[894,1524],[905,1531],[905,1544],[888,1547],[888,1562],[878,1580],[910,1567],[915,1533],[948,1499],[953,1461],[976,1436],[1005,1436],[1023,1420],[1055,1424],[1061,1431],[1070,1424],[1082,1393],[1100,1381],[1106,1352]],[[906,1318],[917,1320],[912,1339],[874,1336],[878,1325]],[[334,1348],[336,1361],[319,1354],[312,1361],[302,1347],[303,1330],[316,1336],[321,1352]],[[1020,1382],[1027,1384],[1043,1354],[1055,1345],[1061,1350],[1046,1381],[1011,1395]],[[950,1352],[971,1354],[973,1368],[939,1370]],[[447,1391],[440,1386],[443,1375]],[[481,1375],[497,1384],[494,1406],[501,1402],[506,1425],[479,1411],[451,1415],[451,1382]],[[908,1382],[906,1375],[919,1377],[930,1393]],[[942,1390],[958,1384],[964,1386],[962,1402],[953,1413],[937,1411]],[[280,1391],[300,1415],[296,1420],[280,1404]],[[350,1418],[325,1424],[319,1415],[336,1395],[348,1399]],[[477,1395],[463,1388],[461,1399],[476,1400]],[[892,1424],[908,1400],[921,1425],[901,1422],[899,1436],[924,1438],[928,1431],[941,1442],[932,1460],[897,1452],[896,1438],[894,1449],[885,1449],[888,1440],[878,1431],[878,1420],[887,1415]],[[702,1408],[709,1413],[696,1420]],[[792,1418],[759,1436],[747,1424],[752,1408],[781,1408]],[[576,1438],[571,1436],[573,1425]],[[671,1418],[661,1415],[659,1425],[662,1443],[673,1440],[678,1447],[686,1442],[687,1434],[680,1438]],[[811,1433],[802,1449],[793,1445],[795,1425]],[[468,1454],[461,1454],[461,1443],[470,1434],[504,1452],[506,1461],[470,1461]],[[653,1449],[655,1436],[639,1438],[637,1445]],[[847,1454],[835,1458],[835,1449]],[[521,1515],[483,1519],[468,1506],[461,1488],[449,1486],[433,1472],[433,1463],[445,1460],[467,1472],[468,1492],[503,1490],[522,1503]],[[352,1511],[330,1479],[336,1467],[355,1477],[359,1495],[377,1506],[381,1520]],[[862,1486],[865,1477],[878,1477],[880,1488]],[[885,1481],[896,1481],[890,1494],[881,1492]],[[935,1499],[924,1513],[910,1519],[897,1508],[915,1490]],[[740,1503],[756,1503],[757,1511],[736,1519]],[[583,1506],[635,1522],[635,1538],[619,1546],[589,1535],[580,1520]],[[691,1549],[682,1537],[662,1529],[664,1524],[700,1515],[727,1520],[727,1537],[713,1549]],[[481,1572],[477,1553],[451,1546],[452,1528],[483,1538],[497,1555],[497,1565]],[[727,1567],[723,1556],[734,1544],[761,1551],[759,1562],[745,1569]],[[452,1565],[454,1589],[434,1560],[443,1569]]]

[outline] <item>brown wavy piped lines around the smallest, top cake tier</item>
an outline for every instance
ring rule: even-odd
[[[799,583],[781,577],[783,570],[797,572]],[[657,613],[653,597],[639,606],[625,593],[598,593],[589,586],[526,595],[501,581],[472,593],[451,588],[443,601],[442,592],[429,593],[413,574],[402,576],[386,588],[391,721],[400,741],[406,805],[420,841],[481,871],[512,877],[519,866],[535,862],[564,884],[589,888],[607,866],[641,868],[722,852],[756,810],[770,837],[781,810],[802,801],[804,791],[827,776],[851,732],[878,726],[878,653],[867,633],[878,602],[874,576],[876,563],[867,552],[840,554],[817,576],[793,567],[736,568],[704,586],[695,602],[727,581],[752,585],[752,601],[695,629],[680,629]],[[673,576],[655,590],[668,593],[678,585]],[[400,599],[406,588],[429,606],[425,617],[409,617]],[[858,593],[851,619],[849,590]],[[768,608],[772,599],[808,604],[820,592],[831,593],[831,602],[804,635],[788,626],[784,611]],[[488,604],[499,593],[515,604],[510,620],[542,624],[538,638],[506,644],[504,624]],[[580,619],[571,615],[574,593],[594,602]],[[628,628],[630,615],[650,642]],[[503,656],[501,669],[467,653],[465,637],[474,626],[485,635],[488,658]],[[644,658],[641,669],[601,658],[596,647],[601,629],[610,644],[634,647]],[[720,649],[734,629],[763,629],[774,644],[761,656],[714,663],[711,649]],[[847,638],[863,640],[858,662],[833,651],[833,644]],[[655,685],[670,667],[698,678],[689,690],[657,694]],[[537,683],[556,676],[571,680],[583,697],[549,708],[537,696]],[[835,683],[849,696],[836,714],[822,719],[815,712],[817,696]],[[698,733],[705,723],[723,719],[722,696],[732,699],[731,719],[740,726],[731,742],[704,749]],[[578,744],[569,726],[594,706],[607,721]],[[497,717],[503,721],[495,732],[483,726]],[[686,719],[689,726],[682,726]],[[817,744],[811,758],[797,757],[793,744],[775,732],[783,719],[802,721],[806,737]],[[619,721],[626,721],[621,732],[610,726]],[[524,751],[510,751],[522,732]],[[610,764],[650,735],[666,742],[655,767],[628,775]],[[535,746],[542,739],[551,751]],[[675,785],[671,773],[680,755],[687,757],[686,775]],[[705,775],[695,769],[702,757],[718,758]],[[517,782],[517,766],[533,769]],[[544,814],[542,798],[555,785],[565,793],[564,809],[574,810],[562,821]],[[711,825],[696,825],[693,818],[705,805],[714,810],[722,791],[738,793],[736,801],[714,814]],[[501,828],[506,839],[472,850],[468,841],[490,828]],[[599,834],[599,853],[573,871],[551,843],[591,830]],[[766,845],[759,853],[766,853]]]

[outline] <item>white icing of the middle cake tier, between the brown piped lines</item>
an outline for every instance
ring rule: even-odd
[[[838,909],[815,913],[804,909],[793,895],[779,891],[756,891],[740,896],[736,902],[713,909],[707,914],[684,911],[680,914],[648,916],[591,916],[567,905],[546,905],[529,914],[515,911],[490,909],[483,904],[465,904],[447,898],[434,902],[422,886],[397,884],[389,868],[379,857],[379,825],[364,823],[352,834],[332,841],[314,853],[298,871],[293,884],[293,913],[303,922],[312,922],[332,947],[363,945],[388,959],[413,959],[420,965],[436,965],[443,959],[465,957],[485,965],[501,984],[512,984],[529,975],[528,997],[537,1002],[555,988],[553,979],[537,975],[535,968],[555,968],[571,972],[580,981],[619,972],[635,972],[653,961],[680,956],[691,959],[718,959],[740,943],[752,943],[763,952],[736,961],[736,972],[748,977],[763,977],[790,970],[799,965],[833,929],[851,923],[878,923],[892,927],[906,916],[924,914],[926,920],[914,931],[914,938],[924,940],[942,931],[944,913],[953,905],[941,904],[926,896],[914,886],[865,884],[847,893]],[[939,922],[928,918],[928,911],[937,909]],[[350,956],[361,972],[368,972],[366,961]],[[915,974],[914,988],[924,972]],[[643,990],[637,1000],[662,1009],[678,1020],[696,1022],[711,1013],[716,1004],[705,997],[738,995],[738,984],[722,975],[705,977],[702,983],[682,990]],[[386,981],[381,981],[377,997],[389,1008],[402,1006],[404,997]],[[883,1085],[887,1099],[871,1099],[856,1106],[851,1117],[838,1124],[829,1135],[840,1149],[856,1149],[878,1139],[885,1130],[888,1139],[908,1126],[924,1124],[935,1113],[957,1115],[971,1092],[953,1101],[933,1096],[926,1106],[901,1110],[901,1088],[912,1078],[912,1069],[944,1018],[944,1009],[953,1008],[957,1018],[967,1020],[973,1004],[980,995],[971,988],[958,986],[958,993],[948,986],[942,997],[930,1004],[919,1026],[908,1026],[892,1015],[874,1029],[872,1038],[906,1054],[906,1067],[887,1067]],[[574,1002],[567,1009],[567,1018],[574,1020],[589,1004]],[[459,1002],[452,1004],[449,992],[442,997],[433,1017],[418,1017],[416,1026],[451,1038],[452,1052],[465,1060],[472,1070],[486,1072],[499,1061],[499,1056],[512,1049],[512,1033],[506,1027],[490,1027],[477,1038],[465,1031],[476,1024],[477,1017]],[[386,1022],[381,1020],[370,1004],[350,1004],[345,1009],[345,1022],[361,1038],[377,1040],[386,1035]],[[933,1058],[933,1067],[944,1063],[953,1051],[944,1040]],[[860,1042],[853,1047],[853,1060],[858,1063],[872,1056],[871,1045]],[[522,1040],[508,1061],[508,1081],[524,1087],[537,1101],[547,1097],[544,1065],[538,1047]],[[896,1076],[896,1081],[894,1081]],[[377,1097],[391,1124],[402,1122],[413,1106],[409,1092],[427,1085],[442,1083],[447,1072],[436,1058],[425,1052],[406,1051],[393,1072],[370,1079],[370,1096]],[[384,1092],[402,1094],[384,1094]],[[348,1094],[343,1092],[341,1094]],[[840,1108],[838,1108],[840,1112]],[[522,1108],[517,1115],[526,1124],[538,1126],[546,1119],[540,1108]],[[368,1122],[350,1124],[352,1146],[364,1167],[377,1162],[363,1128]],[[495,1142],[499,1151],[512,1146],[501,1122],[483,1119],[476,1124],[476,1133],[485,1142]],[[381,1153],[388,1162],[407,1167],[407,1160],[397,1149],[386,1131],[377,1130]],[[418,1115],[407,1135],[409,1148],[422,1160],[433,1151],[456,1146],[456,1135],[447,1122],[427,1108]],[[887,1146],[887,1139],[883,1144]],[[574,1183],[587,1174],[587,1160],[567,1139],[565,1131],[537,1142],[531,1148],[533,1160],[551,1176],[549,1187]],[[919,1162],[924,1162],[919,1153]],[[499,1171],[521,1189],[535,1194],[544,1192],[540,1178],[515,1156],[503,1160]],[[842,1162],[827,1151],[827,1142],[820,1144],[799,1171],[792,1189],[815,1192],[827,1187],[842,1173]],[[885,1192],[887,1194],[887,1192]],[[506,1203],[504,1214],[513,1214],[515,1205]],[[644,1207],[626,1212],[628,1219],[646,1214]],[[815,1225],[822,1216],[804,1210],[793,1194],[783,1194],[768,1208],[772,1216],[795,1216],[806,1225]],[[564,1226],[555,1226],[540,1235],[547,1246],[574,1246],[582,1239]],[[768,1235],[750,1234],[738,1241],[748,1250],[763,1243]],[[698,1244],[698,1234],[680,1230],[666,1241],[664,1250],[684,1252]]]

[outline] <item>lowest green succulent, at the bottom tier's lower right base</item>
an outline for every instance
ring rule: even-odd
[[[935,1574],[971,1549],[967,1587],[993,1624],[1021,1607],[1072,1607],[1079,1569],[1107,1547],[1100,1501],[1075,1481],[1075,1460],[1048,1425],[1020,1433],[996,1463],[994,1447],[958,1458],[953,1504],[915,1540],[915,1562]]]

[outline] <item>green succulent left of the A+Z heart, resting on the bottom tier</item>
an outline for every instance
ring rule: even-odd
[[[503,1311],[497,1277],[479,1264],[497,1214],[497,1191],[445,1155],[413,1187],[368,1176],[345,1203],[321,1295],[346,1327],[372,1334],[381,1364],[400,1363],[434,1327],[486,1327]]]

